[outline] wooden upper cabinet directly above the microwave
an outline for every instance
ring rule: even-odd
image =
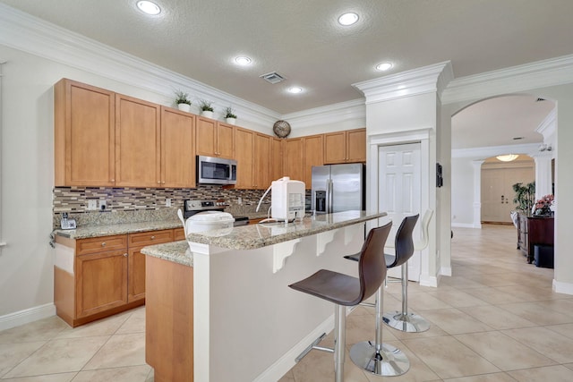
[[[235,158],[235,126],[197,117],[196,152],[207,157]]]

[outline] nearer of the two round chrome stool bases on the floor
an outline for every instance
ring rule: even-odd
[[[397,347],[389,344],[380,344],[380,347],[380,351],[376,352],[376,345],[370,341],[355,344],[350,349],[350,359],[357,367],[377,376],[401,376],[410,369],[406,354]]]

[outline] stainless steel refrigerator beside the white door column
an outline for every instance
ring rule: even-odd
[[[311,210],[317,214],[365,209],[364,165],[312,166]]]

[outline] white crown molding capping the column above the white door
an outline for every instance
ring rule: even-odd
[[[399,72],[378,79],[354,83],[366,96],[366,104],[390,99],[412,97],[420,94],[440,93],[453,79],[449,61]]]

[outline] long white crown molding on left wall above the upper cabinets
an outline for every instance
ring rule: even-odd
[[[269,129],[281,116],[243,98],[64,30],[5,4],[0,4],[0,44],[147,89],[166,98],[173,98],[174,89],[189,89],[193,96],[210,99],[215,106],[233,105],[242,121],[269,126]]]

